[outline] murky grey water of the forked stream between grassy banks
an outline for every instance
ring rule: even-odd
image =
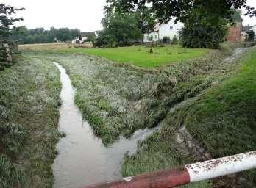
[[[76,188],[121,178],[124,154],[135,153],[138,141],[159,127],[136,131],[129,140],[122,137],[110,148],[104,147],[102,140],[94,136],[90,125],[83,120],[74,104],[75,89],[71,79],[61,65],[55,65],[60,70],[63,84],[59,127],[66,137],[57,144],[59,154],[53,164],[54,188]]]

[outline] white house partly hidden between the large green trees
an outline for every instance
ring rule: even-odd
[[[174,37],[179,39],[179,29],[182,29],[182,27],[182,23],[178,22],[175,24],[172,20],[167,24],[156,24],[156,26],[154,26],[154,32],[144,34],[143,42],[149,43],[152,41],[161,40],[163,37],[170,37],[171,40]]]

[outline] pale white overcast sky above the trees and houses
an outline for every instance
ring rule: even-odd
[[[29,29],[44,27],[49,29],[69,27],[82,32],[102,29],[105,0],[1,0],[16,7],[25,7],[18,15],[24,17],[19,25]],[[256,7],[256,0],[247,0],[247,4]],[[243,24],[256,25],[256,17],[243,16]]]

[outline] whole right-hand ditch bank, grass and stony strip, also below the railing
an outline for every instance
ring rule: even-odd
[[[135,155],[126,156],[123,176],[256,149],[256,48],[233,57],[223,61],[233,68],[217,74],[218,82],[168,112],[163,129],[144,140]],[[186,187],[255,187],[255,175],[255,170],[249,170]]]

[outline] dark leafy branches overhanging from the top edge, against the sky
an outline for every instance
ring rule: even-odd
[[[246,15],[256,15],[253,7],[246,5],[246,0],[107,0],[107,10],[118,12],[133,12],[145,7],[147,4],[161,23],[171,18],[185,22],[191,16],[191,10],[204,9],[208,15],[231,19],[232,9],[245,9]]]

